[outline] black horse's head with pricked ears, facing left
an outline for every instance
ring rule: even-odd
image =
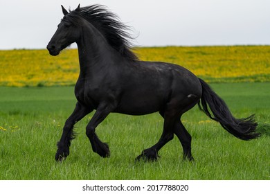
[[[80,11],[80,4],[78,8],[74,10],[74,12]],[[69,19],[70,13],[62,6],[62,12],[64,17],[58,28],[51,38],[51,41],[48,43],[47,49],[49,53],[53,56],[56,56],[62,51],[64,48],[76,42],[80,37],[80,30],[78,30],[78,26],[75,25],[71,19]]]

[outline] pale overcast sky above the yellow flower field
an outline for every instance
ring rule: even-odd
[[[105,5],[137,46],[270,44],[269,0],[1,0],[0,49],[46,48],[66,9]]]

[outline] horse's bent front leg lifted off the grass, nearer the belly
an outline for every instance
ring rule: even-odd
[[[100,157],[109,157],[109,145],[107,143],[103,143],[98,139],[96,135],[96,127],[100,124],[110,112],[112,112],[114,108],[111,105],[107,105],[106,103],[101,103],[96,110],[96,113],[91,118],[91,121],[87,125],[86,134],[89,138],[89,141],[92,145],[93,152],[98,153]]]

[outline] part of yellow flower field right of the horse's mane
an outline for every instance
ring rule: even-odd
[[[208,82],[270,81],[270,46],[140,48],[138,54],[180,64]]]

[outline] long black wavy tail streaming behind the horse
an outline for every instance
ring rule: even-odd
[[[199,109],[211,119],[218,121],[225,130],[239,139],[250,140],[260,136],[255,132],[258,124],[254,121],[254,115],[247,118],[234,118],[224,100],[217,96],[204,80],[199,80],[202,87],[201,101],[198,103]],[[213,115],[209,112],[208,107]]]

